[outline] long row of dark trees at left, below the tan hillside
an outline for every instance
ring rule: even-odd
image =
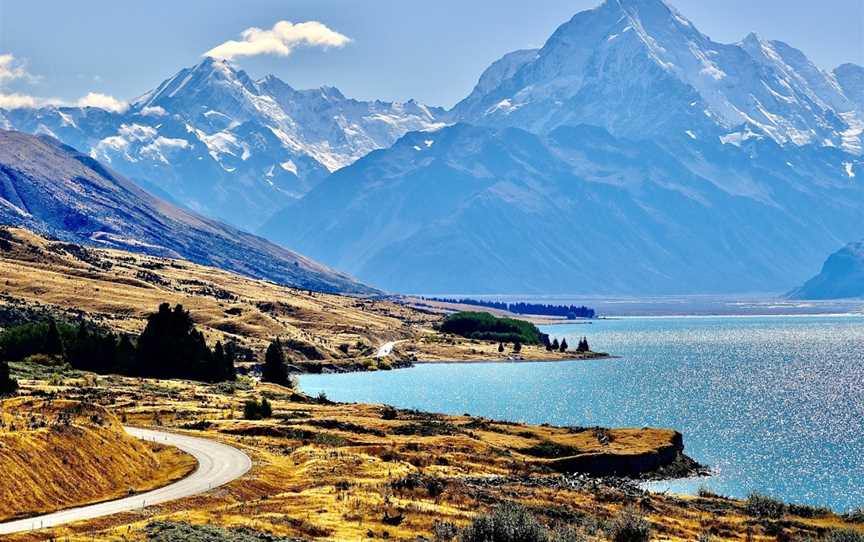
[[[85,322],[77,326],[53,320],[32,322],[0,334],[0,359],[20,361],[35,354],[63,359],[75,369],[148,378],[185,378],[202,382],[236,379],[235,345],[210,349],[182,305],[167,303],[147,318],[133,342]],[[0,375],[2,376],[2,375]]]

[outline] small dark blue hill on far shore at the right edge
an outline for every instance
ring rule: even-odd
[[[832,254],[822,271],[789,293],[793,299],[864,297],[864,242],[850,243]]]

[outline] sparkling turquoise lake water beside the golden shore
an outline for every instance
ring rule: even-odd
[[[662,317],[548,326],[618,359],[305,375],[337,401],[581,426],[672,427],[709,478],[664,483],[864,506],[864,317]]]

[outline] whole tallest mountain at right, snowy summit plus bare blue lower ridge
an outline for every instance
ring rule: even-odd
[[[399,291],[787,290],[860,233],[860,73],[607,0],[261,231]]]

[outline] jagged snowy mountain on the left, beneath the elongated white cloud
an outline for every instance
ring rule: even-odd
[[[433,129],[442,110],[362,102],[337,89],[253,81],[224,60],[179,71],[122,113],[45,107],[0,111],[0,127],[56,137],[151,192],[254,229],[330,171],[408,131]]]

